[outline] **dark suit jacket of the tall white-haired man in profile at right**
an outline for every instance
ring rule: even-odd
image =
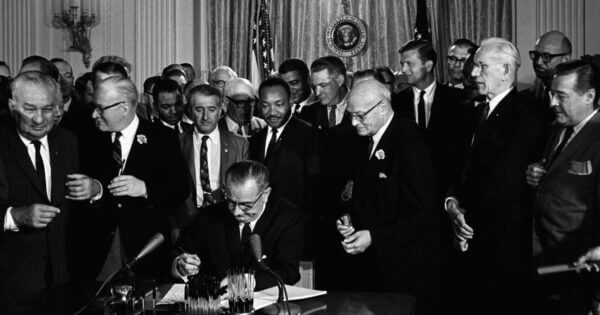
[[[540,158],[540,139],[538,121],[513,89],[476,134],[462,176],[453,185],[475,231],[466,253],[475,265],[470,272],[479,275],[478,281],[497,281],[497,288],[528,278],[532,226],[524,174]]]

